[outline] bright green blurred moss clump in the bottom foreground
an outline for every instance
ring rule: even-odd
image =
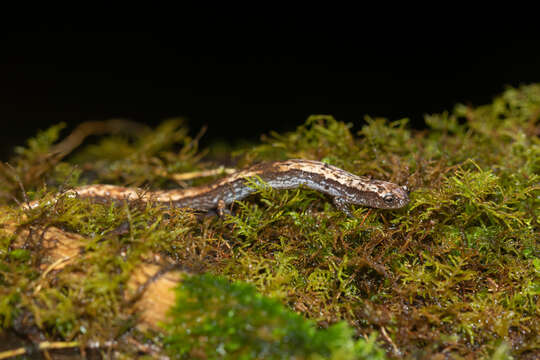
[[[170,315],[165,344],[175,358],[385,358],[374,338],[353,341],[343,322],[317,329],[253,286],[211,275],[184,280]]]

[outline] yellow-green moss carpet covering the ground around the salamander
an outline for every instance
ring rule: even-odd
[[[422,131],[365,120],[312,116],[227,154],[199,149],[179,120],[66,157],[49,154],[62,126],[38,133],[0,169],[0,223],[24,212],[19,229],[57,226],[87,242],[80,261],[44,277],[46,249],[0,231],[2,331],[114,341],[126,357],[137,351],[129,338],[173,358],[537,358],[540,85],[428,115]],[[239,168],[321,160],[407,184],[411,202],[348,218],[317,192],[260,186],[220,219],[67,197],[23,211],[13,200],[25,201],[22,188],[49,199],[87,183],[197,185],[215,177],[179,185],[172,175],[218,167],[216,158]],[[191,275],[162,330],[138,332],[125,284],[148,254]]]

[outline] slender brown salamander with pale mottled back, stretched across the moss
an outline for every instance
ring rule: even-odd
[[[381,180],[357,176],[313,160],[287,160],[258,164],[212,184],[179,190],[144,191],[114,185],[87,185],[71,190],[76,196],[98,201],[152,201],[175,207],[208,211],[219,209],[255,192],[246,179],[260,178],[274,189],[305,186],[331,196],[348,215],[349,205],[397,209],[409,202],[409,190]],[[31,207],[37,203],[31,203]]]

